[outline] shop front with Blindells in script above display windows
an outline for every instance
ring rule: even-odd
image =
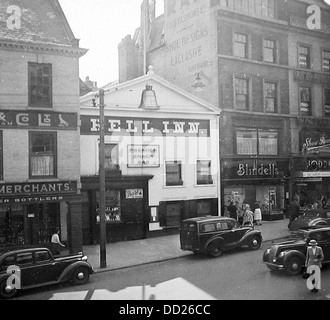
[[[243,212],[245,204],[260,203],[263,220],[283,219],[288,201],[289,159],[223,159],[223,210],[234,201]]]

